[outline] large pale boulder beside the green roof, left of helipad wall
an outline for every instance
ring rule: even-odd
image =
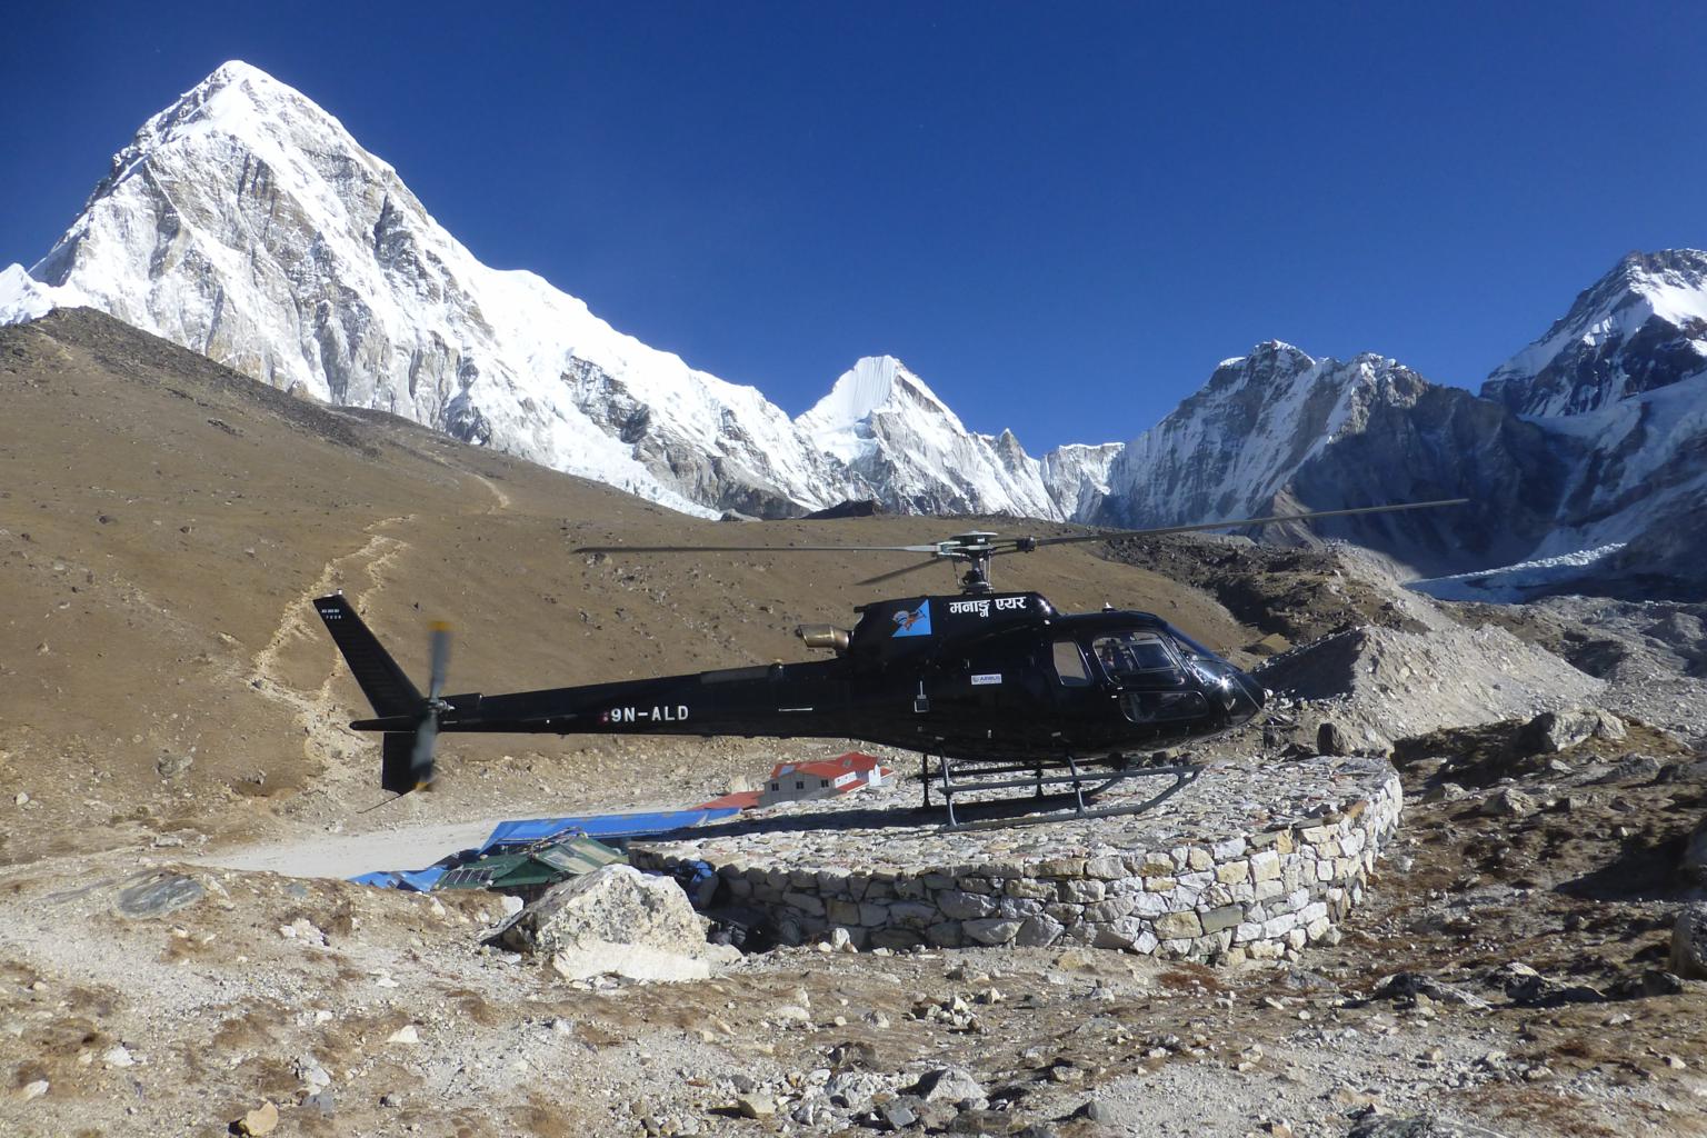
[[[521,952],[550,955],[565,979],[702,979],[731,952],[705,942],[705,926],[676,882],[628,865],[553,885],[502,938]]]

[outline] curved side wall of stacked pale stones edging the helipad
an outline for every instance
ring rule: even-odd
[[[1091,945],[1191,961],[1277,959],[1330,935],[1403,804],[1388,768],[1367,797],[1321,817],[1156,850],[992,860],[917,870],[719,863],[703,850],[637,846],[633,865],[710,863],[736,904],[784,940],[847,930],[860,949]]]

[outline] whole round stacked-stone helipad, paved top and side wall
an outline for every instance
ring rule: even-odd
[[[1144,781],[1127,795],[1166,785]],[[727,901],[790,942],[842,928],[860,949],[1072,943],[1232,962],[1328,937],[1403,802],[1393,768],[1366,758],[1215,764],[1145,814],[1002,829],[942,833],[912,809],[917,793],[794,804],[632,858],[710,865]]]

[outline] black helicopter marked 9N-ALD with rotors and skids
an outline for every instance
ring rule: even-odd
[[[434,780],[440,732],[553,735],[746,735],[862,739],[917,751],[925,781],[939,785],[958,824],[954,795],[968,790],[1065,787],[1077,814],[1086,798],[1145,768],[1135,756],[1202,739],[1251,720],[1267,700],[1260,682],[1151,613],[1069,614],[1036,592],[995,592],[990,561],[1043,546],[1133,536],[1302,522],[1352,514],[1415,510],[1451,502],[1284,514],[1273,517],[1099,531],[1065,537],[966,532],[913,546],[582,546],[577,553],[923,553],[925,561],[859,582],[881,584],[942,561],[966,570],[959,594],[859,606],[852,630],[802,624],[807,648],[833,659],[734,667],[577,688],[446,696],[449,631],[432,630],[432,674],[423,696],[396,660],[335,594],[314,601],[374,718],[355,730],[384,732],[381,785],[396,793]],[[929,759],[937,761],[930,771]],[[1086,768],[1096,768],[1096,773]],[[1118,812],[1115,807],[1103,812]]]

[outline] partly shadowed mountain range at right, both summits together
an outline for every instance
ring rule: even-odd
[[[1483,398],[1376,355],[1258,345],[1127,444],[1086,515],[1145,527],[1456,496],[1471,502],[1261,537],[1343,537],[1424,573],[1622,546],[1545,587],[1707,595],[1707,253],[1627,256]]]

